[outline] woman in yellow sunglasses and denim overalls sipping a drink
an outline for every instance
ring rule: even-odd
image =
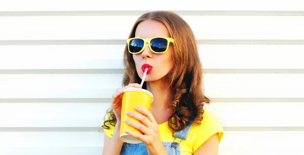
[[[202,90],[202,65],[189,25],[173,12],[145,13],[135,22],[127,43],[124,87],[113,94],[102,125],[102,154],[218,154],[223,128],[203,108],[209,99]],[[145,67],[143,89],[154,96],[150,110],[135,107],[141,114],[127,112],[142,124],[121,120],[122,92],[140,88]],[[125,131],[142,143],[120,140],[121,121],[144,133]]]

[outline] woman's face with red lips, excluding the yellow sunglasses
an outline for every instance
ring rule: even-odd
[[[138,24],[135,31],[135,37],[150,38],[155,36],[170,37],[169,31],[163,23],[153,20],[145,20]],[[158,81],[166,76],[173,67],[172,46],[169,46],[166,53],[156,54],[151,52],[148,44],[146,44],[143,52],[133,54],[133,59],[135,61],[136,71],[140,78],[142,78],[144,73],[144,64],[148,64],[152,66],[152,69],[149,69],[149,72],[147,72],[145,81]]]

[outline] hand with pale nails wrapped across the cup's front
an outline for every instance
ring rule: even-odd
[[[134,118],[135,120],[140,121],[142,124],[129,120],[123,120],[123,121],[126,124],[140,130],[143,133],[143,135],[129,130],[125,130],[125,132],[131,137],[144,142],[145,145],[147,146],[148,152],[155,152],[149,154],[158,154],[156,151],[165,151],[158,130],[158,123],[155,121],[152,113],[143,107],[134,107],[134,108],[140,113],[126,111],[126,114]]]

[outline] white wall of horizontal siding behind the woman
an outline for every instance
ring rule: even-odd
[[[0,154],[101,154],[125,40],[150,10],[195,32],[220,155],[303,154],[303,2],[132,2],[0,0]]]

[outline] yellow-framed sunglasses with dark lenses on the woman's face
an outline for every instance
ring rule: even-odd
[[[142,52],[146,43],[148,43],[150,51],[157,54],[165,53],[169,49],[170,42],[174,44],[173,38],[161,36],[151,38],[132,37],[127,39],[128,50],[131,54]]]

